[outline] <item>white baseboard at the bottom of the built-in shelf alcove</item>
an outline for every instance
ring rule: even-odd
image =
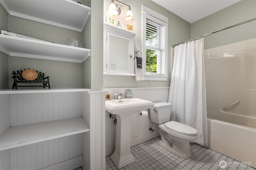
[[[58,164],[48,166],[41,170],[74,170],[81,166],[84,166],[84,160],[83,160],[82,156],[77,156],[76,158],[72,158],[72,159],[66,160],[64,162],[60,162]]]

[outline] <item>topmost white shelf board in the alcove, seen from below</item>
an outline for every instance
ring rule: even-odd
[[[91,8],[72,0],[0,0],[11,16],[82,32]]]

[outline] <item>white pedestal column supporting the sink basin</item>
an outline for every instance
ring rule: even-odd
[[[116,148],[110,159],[118,169],[135,162],[130,151],[131,116],[132,114],[116,114]]]

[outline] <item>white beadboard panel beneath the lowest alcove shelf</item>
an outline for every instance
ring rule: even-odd
[[[68,138],[68,141],[65,139]],[[1,151],[1,170],[39,170],[82,155],[82,134]],[[68,142],[65,144],[65,142]],[[67,147],[66,147],[67,146]]]

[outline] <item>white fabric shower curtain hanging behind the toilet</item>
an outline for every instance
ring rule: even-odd
[[[207,145],[206,88],[204,76],[204,39],[174,48],[170,83],[171,121],[178,121],[198,131],[200,145]]]

